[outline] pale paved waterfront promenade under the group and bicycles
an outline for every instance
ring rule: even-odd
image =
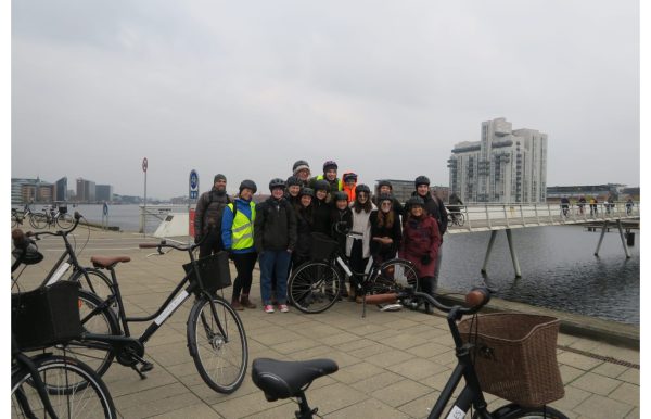
[[[77,251],[88,232],[76,231]],[[145,257],[151,250],[138,243],[156,241],[129,232],[93,230],[80,255],[128,255],[131,262],[117,266],[128,315],[155,310],[182,277],[187,255],[170,252]],[[36,283],[47,274],[63,249],[62,241],[48,238],[39,249],[46,256],[28,267],[21,283]],[[231,267],[234,278],[234,268]],[[230,300],[231,289],[226,290]],[[252,297],[259,304],[259,271],[254,272]],[[493,304],[493,303],[492,303]],[[145,358],[155,365],[141,380],[131,369],[114,364],[105,374],[116,408],[124,418],[290,418],[296,409],[291,401],[268,403],[251,381],[251,369],[242,386],[231,395],[215,393],[199,377],[186,340],[190,304],[180,307],[146,345]],[[307,391],[312,407],[326,418],[424,418],[447,381],[456,358],[445,318],[401,310],[380,313],[342,302],[319,315],[240,312],[250,345],[250,361],[256,357],[308,359],[329,357],[340,370],[318,379]],[[613,323],[614,325],[614,323]],[[135,325],[132,333],[140,333]],[[558,359],[565,397],[552,406],[570,418],[639,418],[639,351],[561,333]],[[493,407],[503,401],[487,395]]]

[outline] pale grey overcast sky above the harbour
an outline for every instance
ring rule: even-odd
[[[546,132],[548,186],[639,185],[638,1],[12,3],[12,176],[266,192],[298,158],[448,183],[483,120]]]

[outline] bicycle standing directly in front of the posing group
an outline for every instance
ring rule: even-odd
[[[356,234],[342,231],[340,223],[335,224],[333,229],[346,237]],[[363,272],[354,272],[339,243],[326,234],[312,233],[310,259],[298,266],[288,282],[290,303],[306,314],[322,313],[341,300],[346,277],[361,277],[356,285],[356,294],[362,296],[362,317],[366,317],[367,295],[387,293],[407,284],[416,284],[418,281],[411,262],[400,258],[374,264],[371,256]]]

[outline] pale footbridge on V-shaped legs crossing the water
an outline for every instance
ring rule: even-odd
[[[599,255],[599,249],[603,241],[609,223],[617,226],[622,246],[626,258],[630,258],[630,253],[626,245],[624,229],[639,228],[640,203],[634,202],[633,205],[626,202],[597,203],[597,204],[569,204],[563,207],[560,203],[551,204],[521,204],[521,203],[501,203],[501,204],[472,204],[472,205],[447,205],[448,210],[448,229],[447,233],[460,234],[469,232],[490,231],[488,247],[482,272],[486,274],[486,267],[495,243],[495,237],[499,230],[505,230],[507,241],[513,262],[515,277],[522,277],[520,263],[515,252],[515,245],[511,234],[512,229],[527,227],[545,226],[564,226],[590,224],[601,226],[601,236],[595,256]]]

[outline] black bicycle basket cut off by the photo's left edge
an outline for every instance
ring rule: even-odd
[[[66,343],[81,337],[79,285],[59,281],[11,295],[11,329],[23,351]]]

